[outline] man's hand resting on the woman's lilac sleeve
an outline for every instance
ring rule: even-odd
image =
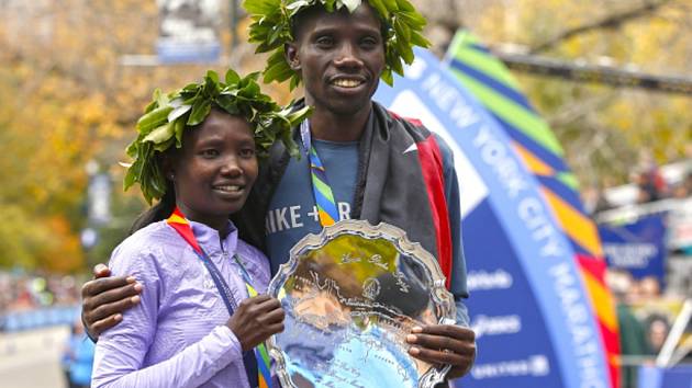
[[[93,281],[81,287],[81,320],[89,336],[99,335],[123,319],[123,312],[139,303],[142,284],[132,276],[110,277],[103,264],[93,267]]]

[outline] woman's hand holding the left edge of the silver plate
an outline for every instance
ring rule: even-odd
[[[283,331],[281,303],[268,295],[257,295],[241,301],[226,326],[241,341],[243,352],[248,351],[269,336]]]

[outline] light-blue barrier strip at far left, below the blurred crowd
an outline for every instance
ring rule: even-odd
[[[79,317],[79,306],[56,306],[0,316],[0,331],[15,332],[51,326],[72,324]]]

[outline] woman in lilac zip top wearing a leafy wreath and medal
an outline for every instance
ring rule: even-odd
[[[224,83],[209,72],[168,96],[156,92],[138,121],[125,189],[138,183],[147,201],[160,201],[111,256],[113,273],[144,288],[138,306],[99,338],[93,387],[271,383],[261,343],[283,330],[283,311],[255,296],[269,282],[268,260],[238,239],[228,215],[257,178],[256,150],[291,141],[283,135],[309,110],[281,111],[255,79],[230,70]]]

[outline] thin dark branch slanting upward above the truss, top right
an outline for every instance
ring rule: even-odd
[[[617,28],[626,22],[629,22],[635,19],[644,18],[656,12],[658,9],[666,5],[671,0],[660,0],[658,2],[645,3],[644,5],[639,8],[635,8],[633,10],[625,11],[623,13],[612,14],[605,19],[595,21],[593,23],[588,23],[588,24],[580,25],[573,28],[569,28],[555,37],[532,47],[529,53],[537,54],[537,53],[549,50],[550,48],[554,48],[555,46],[559,45],[563,41],[571,39],[572,37],[577,35],[581,35],[591,31],[603,30],[603,28]]]

